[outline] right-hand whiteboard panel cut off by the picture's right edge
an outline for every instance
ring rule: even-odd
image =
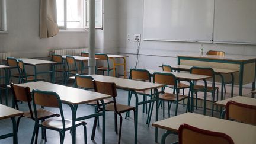
[[[256,43],[256,0],[215,0],[215,42]]]

